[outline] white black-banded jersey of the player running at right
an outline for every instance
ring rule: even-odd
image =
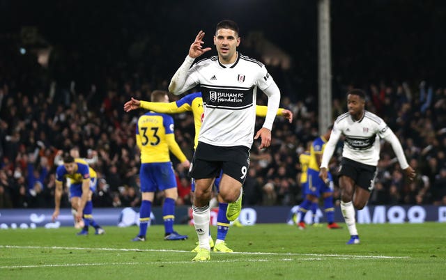
[[[334,121],[330,141],[337,142],[341,134],[345,137],[342,157],[376,166],[379,160],[380,138],[392,134],[392,130],[382,118],[369,111],[364,111],[360,120],[353,120],[347,112]]]

